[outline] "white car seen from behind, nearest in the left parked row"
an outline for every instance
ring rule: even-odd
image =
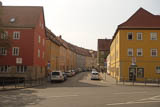
[[[62,71],[53,71],[50,76],[51,82],[53,81],[64,81],[65,77]]]

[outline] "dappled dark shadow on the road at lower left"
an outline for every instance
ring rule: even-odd
[[[0,91],[0,107],[24,107],[38,104],[44,98],[34,95],[33,90]]]

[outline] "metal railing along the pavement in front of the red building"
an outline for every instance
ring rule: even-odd
[[[30,88],[39,85],[46,85],[47,79],[40,78],[37,80],[25,80],[25,79],[1,79],[0,90],[12,90]]]

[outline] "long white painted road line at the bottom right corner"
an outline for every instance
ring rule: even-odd
[[[160,103],[160,101],[126,102],[126,103],[113,103],[113,104],[106,104],[106,105],[108,105],[108,106],[116,106],[116,105],[145,104],[145,103]]]

